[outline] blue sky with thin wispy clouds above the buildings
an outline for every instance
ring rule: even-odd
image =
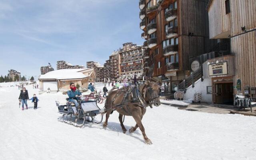
[[[103,64],[123,43],[143,44],[139,11],[138,0],[0,0],[0,74]]]

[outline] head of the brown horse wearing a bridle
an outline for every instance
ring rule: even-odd
[[[146,81],[142,86],[143,98],[150,105],[150,107],[152,107],[152,104],[154,104],[154,106],[160,106],[161,102],[159,99],[159,94],[159,86],[154,82]]]

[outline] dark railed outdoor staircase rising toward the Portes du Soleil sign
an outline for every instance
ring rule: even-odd
[[[188,88],[190,85],[192,85],[192,87],[194,87],[194,82],[196,82],[197,80],[199,80],[200,78],[202,78],[203,74],[202,74],[202,65],[192,74],[190,74],[190,76],[188,76],[188,78],[186,78],[183,82],[181,82],[178,86],[178,89],[184,89],[184,92],[186,92],[186,88]],[[202,81],[204,80],[203,78],[201,79]],[[185,88],[184,88],[185,86]]]

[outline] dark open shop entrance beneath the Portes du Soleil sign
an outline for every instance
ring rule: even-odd
[[[233,82],[217,82],[213,84],[213,102],[233,105]]]

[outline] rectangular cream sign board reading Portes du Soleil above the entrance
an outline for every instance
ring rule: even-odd
[[[227,62],[209,64],[209,76],[218,76],[228,74]]]

